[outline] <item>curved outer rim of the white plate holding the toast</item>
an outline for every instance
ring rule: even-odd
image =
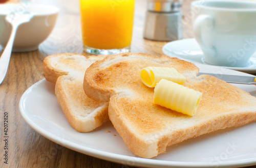
[[[32,90],[35,87],[41,87],[41,85],[45,85],[45,82],[47,81],[45,78],[41,79],[40,81],[34,83],[31,87],[29,87],[22,97],[20,98],[19,101],[19,111],[20,114],[22,115],[23,119],[26,121],[26,123],[37,133],[40,135],[46,137],[50,141],[61,145],[63,147],[69,148],[71,150],[74,150],[76,152],[80,152],[82,154],[86,154],[92,157],[96,157],[99,159],[111,161],[111,162],[116,162],[119,164],[124,164],[124,165],[130,165],[130,166],[146,166],[146,167],[216,167],[214,165],[210,166],[209,163],[207,162],[189,162],[189,161],[167,161],[167,160],[158,160],[158,159],[146,159],[146,158],[141,158],[141,157],[135,157],[135,156],[127,156],[127,155],[121,155],[121,154],[116,154],[116,153],[111,153],[107,151],[101,151],[97,149],[92,149],[90,147],[86,146],[81,146],[79,144],[75,144],[74,142],[70,142],[67,139],[63,139],[59,137],[58,135],[54,135],[51,132],[48,132],[40,127],[38,127],[36,124],[34,124],[31,119],[26,115],[26,110],[25,110],[25,104],[26,104],[26,96],[28,94],[32,93]],[[50,82],[49,82],[50,83]],[[52,83],[53,84],[53,83]],[[54,85],[54,84],[53,84]],[[133,159],[133,163],[129,163],[127,160]],[[127,161],[124,163],[124,161]],[[250,160],[247,162],[237,162],[234,160],[231,161],[225,161],[218,165],[218,167],[233,167],[233,166],[250,166],[250,165],[255,165],[256,164],[256,158],[255,160]]]

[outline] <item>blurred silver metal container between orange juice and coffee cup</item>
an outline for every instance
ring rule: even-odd
[[[144,38],[156,41],[182,39],[182,0],[147,0]]]

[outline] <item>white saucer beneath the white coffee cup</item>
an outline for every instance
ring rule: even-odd
[[[183,39],[165,44],[163,53],[169,57],[177,57],[193,63],[208,65],[204,62],[203,52],[195,39]],[[246,67],[224,67],[246,73],[256,73],[256,53],[252,55]]]

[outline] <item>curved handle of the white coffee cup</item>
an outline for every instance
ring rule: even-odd
[[[212,55],[212,57],[217,57],[217,51],[214,46],[208,46],[202,37],[202,26],[206,24],[208,31],[212,31],[214,29],[214,18],[212,18],[209,15],[200,15],[196,18],[194,25],[193,25],[193,31],[195,35],[195,39],[199,43],[201,49],[208,53],[209,55]]]

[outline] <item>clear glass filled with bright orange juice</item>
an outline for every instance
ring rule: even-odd
[[[129,52],[135,0],[80,0],[83,49],[93,54]]]

